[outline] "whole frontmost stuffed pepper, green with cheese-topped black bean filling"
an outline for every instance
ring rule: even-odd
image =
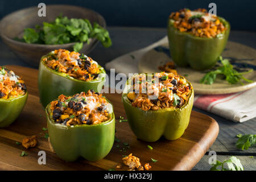
[[[61,159],[80,156],[96,161],[109,154],[115,134],[112,104],[102,94],[88,90],[73,96],[61,94],[46,107],[49,140]]]

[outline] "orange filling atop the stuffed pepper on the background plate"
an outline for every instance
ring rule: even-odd
[[[207,13],[205,9],[182,9],[171,13],[169,18],[179,31],[189,32],[201,38],[215,38],[226,30],[218,16]]]

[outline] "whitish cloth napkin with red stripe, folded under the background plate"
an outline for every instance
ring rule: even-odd
[[[115,72],[127,76],[129,73],[139,73],[138,63],[144,53],[167,42],[165,36],[150,46],[119,56],[107,63],[106,69],[110,71],[114,68]],[[244,122],[256,117],[256,88],[232,94],[196,95],[194,106],[234,122]]]

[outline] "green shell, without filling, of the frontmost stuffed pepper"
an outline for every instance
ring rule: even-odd
[[[89,161],[96,161],[109,154],[115,135],[114,112],[110,114],[109,121],[97,125],[66,127],[55,124],[50,106],[51,104],[46,107],[48,134],[57,156],[73,162],[80,156]]]

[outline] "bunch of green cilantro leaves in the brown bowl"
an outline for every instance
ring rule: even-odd
[[[110,47],[112,41],[108,30],[94,22],[93,26],[88,19],[69,19],[67,16],[57,16],[54,22],[43,22],[43,26],[24,28],[23,39],[15,38],[26,43],[37,44],[66,44],[76,42],[74,51],[79,52],[84,43],[89,44],[90,38],[100,40],[104,47]]]

